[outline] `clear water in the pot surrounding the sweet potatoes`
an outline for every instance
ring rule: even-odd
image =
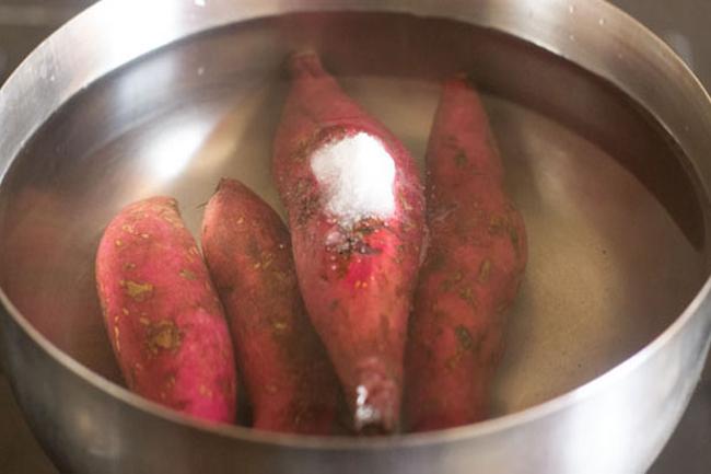
[[[459,23],[290,15],[193,37],[126,66],[72,97],[15,159],[0,189],[0,285],[49,340],[121,383],[93,257],[103,227],[129,201],[173,195],[197,234],[201,205],[221,176],[233,176],[282,211],[270,142],[288,86],[283,59],[302,47],[319,50],[420,163],[438,81],[466,71],[485,91],[531,248],[496,414],[623,361],[706,279],[702,211],[684,157],[611,85]]]

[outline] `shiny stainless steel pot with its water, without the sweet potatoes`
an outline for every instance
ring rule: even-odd
[[[145,20],[136,22],[131,5]],[[533,42],[617,84],[684,153],[625,95],[553,55],[409,15],[252,22],[95,82],[191,33],[341,8],[453,18]],[[96,41],[80,41],[91,32]],[[279,63],[300,45],[318,47],[416,155],[434,76],[471,69],[488,90],[532,248],[497,385],[502,417],[382,440],[265,436],[187,420],[96,375],[116,380],[93,298],[101,228],[127,200],[171,193],[195,230],[223,174],[278,206],[267,161],[284,88]],[[641,472],[708,350],[710,125],[709,99],[681,63],[593,1],[101,3],[0,91],[9,131],[0,137],[1,321],[15,392],[59,467],[75,473]]]

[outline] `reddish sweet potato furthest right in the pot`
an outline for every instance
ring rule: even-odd
[[[524,222],[504,190],[485,109],[464,79],[444,85],[427,172],[430,244],[406,358],[413,431],[487,416],[505,312],[526,264]]]

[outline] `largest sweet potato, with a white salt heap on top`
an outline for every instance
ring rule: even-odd
[[[275,140],[299,285],[362,433],[399,425],[403,357],[422,245],[416,165],[313,53],[293,78]]]

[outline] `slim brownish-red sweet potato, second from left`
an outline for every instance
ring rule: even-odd
[[[242,183],[222,180],[205,209],[202,250],[254,428],[329,435],[338,380],[304,310],[287,227]]]

